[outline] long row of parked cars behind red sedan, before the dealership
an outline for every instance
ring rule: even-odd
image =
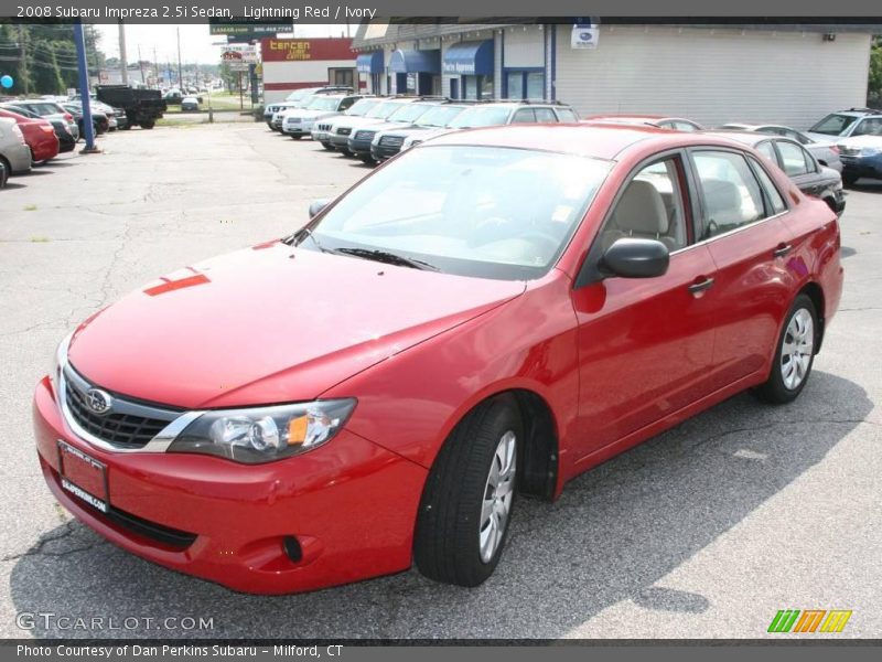
[[[841,213],[842,184],[882,179],[882,111],[833,113],[807,131],[775,124],[731,122],[708,129],[696,121],[658,115],[594,115],[579,118],[560,103],[475,102],[426,96],[378,97],[347,87],[299,89],[265,107],[267,126],[294,140],[310,137],[329,151],[366,163],[389,159],[435,136],[466,128],[525,122],[648,125],[678,131],[711,131],[757,149],[806,193]]]

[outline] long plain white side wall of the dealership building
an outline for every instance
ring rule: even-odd
[[[557,35],[557,98],[581,115],[659,113],[714,126],[807,128],[867,103],[869,34],[602,25],[596,50]],[[506,42],[508,36],[506,35]],[[506,57],[506,66],[508,60]]]

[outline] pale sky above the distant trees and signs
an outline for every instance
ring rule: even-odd
[[[101,34],[100,50],[107,57],[119,56],[119,26],[116,24],[96,25]],[[138,46],[141,58],[153,60],[153,49],[160,62],[178,61],[178,28],[181,29],[181,62],[183,64],[217,64],[220,61],[223,36],[208,34],[207,24],[183,25],[126,25],[126,53],[128,62],[138,61]],[[295,25],[295,36],[345,36],[345,25]],[[354,32],[354,29],[353,29]]]

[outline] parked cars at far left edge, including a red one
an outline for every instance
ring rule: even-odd
[[[96,135],[127,128],[125,110],[92,99]],[[0,103],[0,188],[60,153],[73,151],[85,136],[78,98],[41,97]]]

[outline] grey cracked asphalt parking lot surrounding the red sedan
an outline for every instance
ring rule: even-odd
[[[0,636],[760,638],[787,608],[850,609],[830,637],[882,636],[882,182],[848,196],[840,311],[796,403],[734,397],[574,480],[555,504],[521,500],[496,574],[476,589],[411,570],[270,598],[154,566],[72,521],[39,470],[31,394],[92,312],[288,234],[313,199],[369,169],[262,124],[118,132],[100,146],[0,191]],[[22,612],[140,622],[22,630]],[[168,630],[166,617],[213,629]]]

